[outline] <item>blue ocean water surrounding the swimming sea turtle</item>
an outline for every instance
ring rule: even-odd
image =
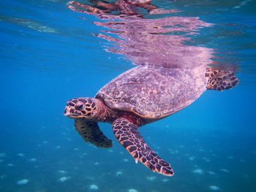
[[[62,0],[2,0],[0,191],[256,191],[256,1],[151,4],[176,11],[151,15],[142,10],[143,19],[204,22],[195,33],[189,34],[194,30],[189,23],[188,30],[181,23],[183,30],[165,35],[214,50],[208,59],[235,69],[240,81],[231,90],[206,91],[184,110],[139,128],[147,144],[171,164],[174,176],[135,164],[110,124],[99,123],[113,140],[112,148],[102,149],[86,144],[73,120],[63,115],[67,100],[94,97],[140,61],[109,39],[121,39],[105,32],[116,28],[94,23],[109,20],[73,11]],[[128,46],[129,39],[124,41]],[[192,56],[181,53],[177,59]]]

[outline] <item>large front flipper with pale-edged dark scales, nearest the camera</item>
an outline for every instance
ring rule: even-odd
[[[173,176],[174,172],[170,164],[159,158],[157,153],[148,147],[137,129],[138,126],[129,122],[127,118],[118,118],[113,122],[113,132],[116,139],[135,158],[136,163],[140,161],[152,172]]]

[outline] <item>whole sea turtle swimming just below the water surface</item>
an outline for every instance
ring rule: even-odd
[[[108,82],[94,99],[67,101],[64,115],[74,118],[80,136],[97,147],[112,147],[97,122],[112,123],[116,139],[136,163],[140,161],[153,172],[172,176],[170,164],[148,147],[138,127],[187,107],[206,89],[222,91],[236,84],[234,72],[211,67],[136,66]]]

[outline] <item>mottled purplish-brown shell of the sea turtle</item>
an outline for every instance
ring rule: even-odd
[[[134,112],[142,118],[165,118],[187,107],[206,91],[206,68],[169,69],[136,66],[99,90],[113,110]]]

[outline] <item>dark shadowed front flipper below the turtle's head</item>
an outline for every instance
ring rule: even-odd
[[[105,137],[96,122],[76,119],[75,130],[86,142],[90,142],[92,145],[103,148],[112,147],[112,140]]]

